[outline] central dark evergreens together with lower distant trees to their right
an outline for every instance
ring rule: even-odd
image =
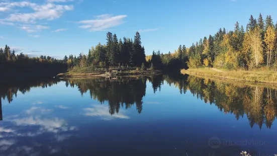
[[[106,44],[99,43],[91,47],[88,53],[80,53],[78,57],[64,56],[71,71],[104,71],[108,68],[116,69],[163,69],[186,67],[185,56],[163,54],[153,51],[151,56],[145,55],[144,46],[141,44],[141,36],[136,32],[132,38],[118,39],[116,34],[107,33]],[[182,47],[186,53],[186,46]]]

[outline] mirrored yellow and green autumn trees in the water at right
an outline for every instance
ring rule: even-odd
[[[238,87],[195,76],[189,76],[184,81],[186,83],[174,80],[168,82],[178,84],[179,89],[189,89],[194,96],[204,100],[205,103],[214,103],[224,113],[232,113],[237,119],[245,114],[251,127],[257,124],[261,128],[264,123],[270,128],[276,118],[276,90],[256,86]]]

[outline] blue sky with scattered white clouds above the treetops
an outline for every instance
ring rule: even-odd
[[[236,21],[246,26],[251,14],[271,15],[275,23],[276,5],[275,0],[0,0],[0,46],[61,58],[86,54],[106,42],[108,31],[119,38],[139,31],[146,54],[167,53],[220,27],[233,30]]]

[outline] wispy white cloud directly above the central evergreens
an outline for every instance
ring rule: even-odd
[[[83,24],[79,28],[89,29],[89,31],[108,31],[110,28],[124,23],[123,19],[127,15],[112,16],[109,14],[95,16],[93,20],[83,20],[77,23]]]

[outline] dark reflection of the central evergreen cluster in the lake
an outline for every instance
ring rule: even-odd
[[[89,92],[90,97],[101,103],[109,103],[110,114],[118,113],[120,107],[125,109],[136,104],[138,113],[142,111],[142,98],[145,96],[146,78],[142,79],[84,79],[69,81],[71,87],[76,86],[83,95]]]

